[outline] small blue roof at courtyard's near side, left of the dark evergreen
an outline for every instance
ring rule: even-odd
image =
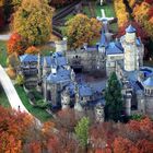
[[[83,96],[91,96],[93,95],[92,89],[86,84],[79,84],[79,95]]]

